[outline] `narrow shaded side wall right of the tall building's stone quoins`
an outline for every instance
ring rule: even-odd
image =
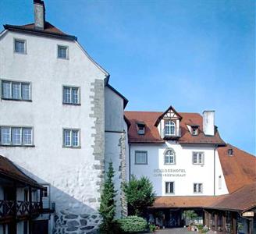
[[[116,218],[121,217],[123,209],[121,183],[122,173],[126,177],[126,168],[122,171],[122,166],[125,166],[123,163],[126,162],[126,143],[127,126],[123,119],[123,98],[109,87],[105,87],[105,172],[108,172],[109,161],[112,161],[115,170],[113,181],[117,190]],[[125,157],[124,161],[122,157]]]

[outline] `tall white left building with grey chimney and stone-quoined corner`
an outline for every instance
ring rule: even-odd
[[[55,214],[32,225],[43,220],[49,233],[94,232],[107,162],[114,163],[117,189],[126,178],[127,100],[76,37],[45,21],[44,11],[34,0],[34,23],[5,25],[0,34],[0,155],[48,188],[43,206]]]

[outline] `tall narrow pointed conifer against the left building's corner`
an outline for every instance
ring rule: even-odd
[[[101,193],[101,205],[99,213],[102,217],[101,233],[112,233],[115,225],[114,218],[116,215],[115,196],[116,190],[112,178],[115,175],[115,171],[112,162],[109,162],[107,178],[105,179],[104,188]]]

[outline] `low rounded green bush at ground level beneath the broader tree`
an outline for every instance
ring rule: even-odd
[[[118,222],[120,229],[123,232],[143,232],[145,229],[147,229],[146,220],[138,216],[128,216],[126,218],[121,218],[118,220]]]

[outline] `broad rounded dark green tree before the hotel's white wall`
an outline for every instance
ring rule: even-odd
[[[147,207],[155,200],[153,185],[147,177],[136,179],[131,176],[130,182],[123,183],[123,192],[126,194],[129,215],[144,216]]]

